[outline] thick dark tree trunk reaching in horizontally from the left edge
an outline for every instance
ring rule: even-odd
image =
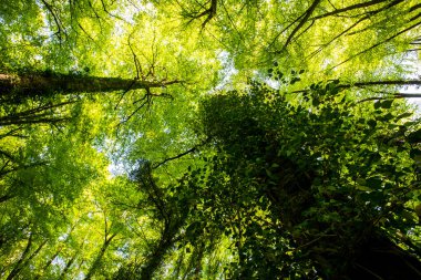
[[[165,87],[179,81],[140,81],[121,77],[99,77],[48,73],[0,73],[0,96],[45,96],[52,93],[93,93],[136,89]]]

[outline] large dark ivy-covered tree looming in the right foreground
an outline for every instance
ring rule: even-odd
[[[400,235],[417,225],[419,131],[402,122],[409,114],[390,113],[392,101],[347,95],[335,82],[314,84],[309,104],[295,107],[256,83],[205,102],[217,155],[192,186],[208,212],[203,227],[223,225],[235,242],[234,278],[420,276],[419,260],[390,240],[417,256]]]

